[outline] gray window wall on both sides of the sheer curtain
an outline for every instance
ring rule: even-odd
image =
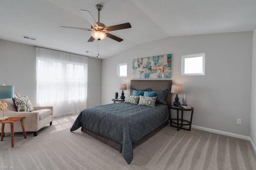
[[[36,48],[0,40],[0,77],[0,85],[14,85],[15,93],[36,105]],[[88,57],[87,98],[87,107],[101,105],[101,59]]]

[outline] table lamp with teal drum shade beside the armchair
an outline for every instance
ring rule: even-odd
[[[13,85],[1,85],[0,86],[0,99],[10,99],[14,97],[14,86]],[[0,117],[0,121],[4,121],[9,117],[4,116],[4,111],[7,109],[7,103],[5,101],[0,104],[0,110],[3,111],[3,116]]]

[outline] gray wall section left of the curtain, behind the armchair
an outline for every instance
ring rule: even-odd
[[[14,85],[15,93],[36,105],[36,48],[0,40],[0,77],[0,85]]]

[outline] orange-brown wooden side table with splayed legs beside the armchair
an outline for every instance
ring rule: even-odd
[[[16,121],[20,121],[21,127],[22,127],[22,131],[23,131],[23,135],[24,138],[26,139],[26,131],[24,128],[24,123],[23,123],[23,119],[25,117],[9,117],[9,119],[6,119],[4,121],[0,121],[0,123],[2,123],[2,130],[1,130],[1,141],[3,141],[4,139],[4,125],[5,123],[10,123],[10,127],[11,127],[11,140],[12,140],[12,148],[14,147],[14,130],[13,130],[13,124]]]

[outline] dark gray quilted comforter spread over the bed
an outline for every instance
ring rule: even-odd
[[[152,132],[169,118],[167,105],[156,107],[130,103],[112,103],[82,111],[70,131],[83,127],[122,144],[122,156],[132,162],[132,144]]]

